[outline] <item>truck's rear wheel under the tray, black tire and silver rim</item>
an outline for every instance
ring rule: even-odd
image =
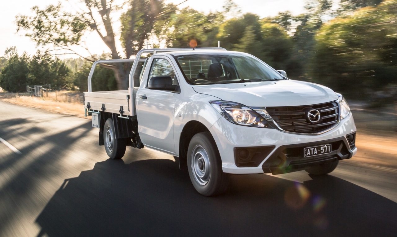
[[[120,159],[125,153],[125,139],[116,138],[116,131],[112,119],[107,119],[103,128],[105,150],[110,159]]]

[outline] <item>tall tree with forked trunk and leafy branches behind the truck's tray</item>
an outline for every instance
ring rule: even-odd
[[[85,10],[69,13],[62,10],[62,5],[49,5],[43,10],[33,7],[33,16],[17,15],[17,31],[24,29],[26,36],[38,46],[50,46],[55,50],[66,50],[78,54],[73,46],[84,47],[81,42],[83,34],[95,31],[109,48],[112,59],[120,59],[117,51],[116,36],[112,25],[112,15],[118,6],[113,0],[84,0]],[[121,38],[127,57],[140,50],[152,33],[155,22],[161,20],[158,13],[164,10],[163,0],[131,0],[129,10],[121,17],[123,23]],[[143,23],[142,23],[143,20]],[[82,55],[80,55],[83,57]],[[84,57],[89,61],[92,58]],[[119,89],[128,88],[128,73],[123,67],[109,66],[116,73]]]

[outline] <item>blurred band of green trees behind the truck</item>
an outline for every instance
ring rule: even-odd
[[[112,59],[129,58],[147,44],[179,48],[195,39],[198,47],[216,47],[220,40],[221,47],[253,54],[286,70],[291,79],[325,84],[347,97],[371,99],[375,92],[396,88],[397,0],[341,0],[337,7],[332,0],[307,0],[303,14],[280,11],[262,19],[242,14],[232,0],[225,1],[223,11],[209,13],[178,9],[164,0],[127,0],[119,19],[112,19],[121,9],[113,1],[83,2],[86,8],[81,12],[64,12],[58,4],[34,7],[32,16],[17,16],[18,29],[27,31],[37,45],[55,50],[32,57],[6,52],[0,58],[4,89],[24,90],[26,83],[44,84],[58,75],[58,82],[51,82],[54,86],[85,91],[89,67],[98,56],[88,54],[61,64],[50,54],[77,54],[73,47],[83,47],[81,37],[87,31],[100,36]],[[121,29],[113,28],[112,21],[117,20]],[[118,40],[123,52],[117,52]],[[46,76],[50,73],[54,76]],[[103,90],[120,89],[127,83],[122,76],[102,75]]]

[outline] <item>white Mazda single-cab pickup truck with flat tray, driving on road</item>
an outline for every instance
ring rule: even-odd
[[[96,65],[131,62],[128,90],[92,92]],[[357,152],[341,94],[250,54],[146,49],[135,60],[96,61],[88,84],[86,114],[111,159],[126,146],[171,154],[202,195],[222,193],[229,174],[328,174]]]

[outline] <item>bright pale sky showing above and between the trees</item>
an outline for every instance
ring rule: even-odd
[[[117,0],[116,0],[117,1]],[[122,0],[119,0],[122,2]],[[184,0],[166,0],[166,2],[172,2],[179,4]],[[64,0],[63,6],[73,12],[78,10],[81,6],[79,0]],[[259,15],[260,17],[276,16],[280,11],[291,11],[293,15],[298,15],[304,12],[305,0],[234,0],[239,6],[243,13],[251,12]],[[43,8],[49,4],[56,5],[57,0],[5,0],[2,2],[2,14],[0,14],[0,56],[4,54],[6,48],[16,46],[18,53],[22,54],[26,51],[29,55],[35,54],[37,51],[35,42],[31,41],[28,37],[24,36],[24,32],[17,32],[17,26],[15,24],[16,15],[32,15],[31,8],[33,6],[39,6]],[[186,2],[179,5],[179,8],[191,7],[198,11],[222,11],[222,6],[225,0],[187,0]],[[115,19],[116,17],[114,17]],[[118,18],[118,17],[117,17]],[[117,19],[116,18],[116,19]],[[114,22],[114,31],[119,31],[118,22]],[[119,38],[116,36],[116,38]],[[91,54],[101,54],[102,52],[108,52],[108,48],[96,34],[96,32],[89,32],[83,37],[86,46],[89,48]],[[222,42],[221,42],[222,46]],[[87,51],[81,51],[76,49],[79,53],[88,56]],[[118,50],[122,52],[121,45],[118,44]],[[73,55],[60,55],[61,58],[77,57]]]

